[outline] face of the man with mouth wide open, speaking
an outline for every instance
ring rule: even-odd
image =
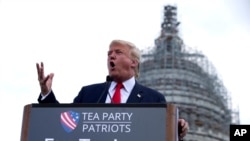
[[[109,76],[115,81],[124,81],[134,76],[135,61],[131,58],[129,47],[113,44],[108,51]]]

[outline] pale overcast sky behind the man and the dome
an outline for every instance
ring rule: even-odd
[[[250,124],[249,0],[0,0],[0,121],[15,127],[0,128],[1,137],[20,139],[23,107],[40,92],[37,62],[70,103],[82,86],[105,81],[111,40],[154,46],[168,4],[177,6],[185,45],[207,56],[241,124]]]

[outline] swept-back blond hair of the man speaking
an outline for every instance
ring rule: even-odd
[[[134,69],[135,78],[138,78],[139,77],[139,68],[140,68],[140,59],[141,59],[140,50],[133,43],[128,42],[128,41],[124,41],[124,40],[113,40],[109,46],[111,47],[112,45],[115,45],[115,44],[127,46],[129,48],[130,55],[131,55],[132,59],[134,59],[138,63],[138,66]]]

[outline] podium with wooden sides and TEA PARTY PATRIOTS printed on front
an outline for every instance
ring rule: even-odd
[[[21,141],[178,141],[174,104],[28,104]]]

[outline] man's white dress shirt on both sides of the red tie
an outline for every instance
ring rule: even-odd
[[[115,93],[116,82],[112,81],[108,90],[108,94],[106,97],[105,103],[111,103],[111,99]],[[126,103],[128,97],[135,86],[135,77],[131,77],[130,79],[124,81],[123,88],[121,89],[121,103]]]

